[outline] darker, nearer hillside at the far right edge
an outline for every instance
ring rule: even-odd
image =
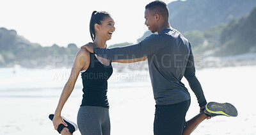
[[[220,35],[220,56],[256,52],[256,7],[250,15],[232,20]]]

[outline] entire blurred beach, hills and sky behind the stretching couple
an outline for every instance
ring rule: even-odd
[[[240,112],[240,117],[232,119],[232,127],[227,126],[230,119],[217,118],[209,122],[212,124],[200,125],[204,131],[198,128],[194,134],[256,134],[252,121],[256,110],[246,111],[246,104],[255,102],[256,1],[164,2],[170,10],[172,28],[191,42],[196,74],[207,100],[232,102]],[[109,48],[136,44],[152,34],[144,24],[145,5],[150,0],[0,3],[0,107],[4,108],[0,113],[4,120],[0,134],[41,134],[38,129],[42,127],[42,134],[56,134],[47,115],[54,113],[76,52],[92,42],[89,22],[94,10],[109,12],[115,20],[116,31],[107,42]],[[111,133],[120,134],[129,127],[124,134],[152,134],[154,98],[147,61],[113,63],[113,68],[108,95],[113,119]],[[182,82],[189,89],[186,80]],[[63,111],[74,122],[82,88],[79,77]],[[199,110],[195,95],[190,89],[189,92],[192,109],[188,119]],[[134,109],[145,117],[134,118]],[[138,122],[132,123],[132,118]],[[219,126],[218,130],[214,126]]]

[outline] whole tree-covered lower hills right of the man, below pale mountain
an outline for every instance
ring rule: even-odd
[[[214,56],[234,56],[256,52],[256,6],[249,15],[226,24],[214,26],[207,31],[188,31],[193,51]]]

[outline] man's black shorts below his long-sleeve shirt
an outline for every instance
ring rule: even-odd
[[[182,135],[190,99],[177,104],[156,105],[154,135]]]

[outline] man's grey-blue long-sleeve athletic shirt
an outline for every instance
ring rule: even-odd
[[[113,49],[94,48],[98,56],[108,60],[130,60],[147,56],[148,69],[157,105],[176,104],[190,99],[188,89],[180,81],[186,77],[200,107],[206,100],[195,76],[195,63],[191,45],[175,29],[163,29],[135,45]]]

